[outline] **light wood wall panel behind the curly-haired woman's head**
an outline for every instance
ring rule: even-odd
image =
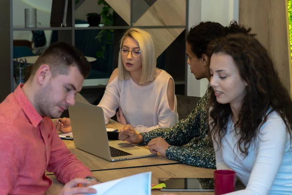
[[[240,0],[239,23],[251,27],[274,60],[279,76],[291,92],[291,58],[287,0]]]

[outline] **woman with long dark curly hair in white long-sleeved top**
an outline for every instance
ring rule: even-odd
[[[216,39],[209,54],[216,167],[246,186],[230,195],[291,195],[292,100],[272,59],[244,34]]]

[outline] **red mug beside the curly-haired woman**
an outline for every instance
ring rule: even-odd
[[[224,195],[235,191],[236,172],[231,170],[214,171],[215,195]]]

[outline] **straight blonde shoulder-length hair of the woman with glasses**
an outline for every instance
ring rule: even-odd
[[[156,58],[151,35],[142,29],[130,28],[122,37],[120,47],[123,46],[128,37],[138,42],[141,51],[142,76],[139,84],[154,80],[156,77]],[[130,73],[123,65],[121,50],[119,51],[118,70],[119,79],[128,80],[131,78]]]

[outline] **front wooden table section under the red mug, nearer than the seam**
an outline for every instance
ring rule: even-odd
[[[184,164],[177,165],[164,165],[164,166],[152,166],[152,167],[139,167],[139,168],[127,168],[120,170],[107,170],[107,171],[94,171],[93,176],[98,178],[102,182],[132,176],[144,172],[152,172],[152,183],[158,184],[158,178],[169,178],[169,177],[204,177],[213,178],[213,169],[204,169]],[[53,185],[49,188],[45,195],[56,195],[58,194],[63,184],[58,182],[55,176],[50,176],[53,179]],[[160,190],[152,190],[152,195],[163,195],[166,192]],[[176,195],[214,195],[214,192],[173,192]]]

